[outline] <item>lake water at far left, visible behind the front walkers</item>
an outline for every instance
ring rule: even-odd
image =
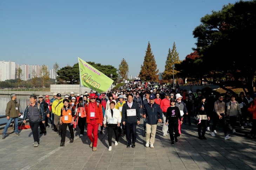
[[[21,95],[16,95],[17,99],[16,101],[19,104],[20,107],[20,112],[23,112],[27,105],[30,103],[29,102],[29,96],[21,96]],[[0,116],[5,115],[5,109],[7,103],[11,100],[10,95],[0,95]],[[38,101],[38,100],[37,100]],[[7,119],[6,118],[1,118],[0,123],[6,123]]]

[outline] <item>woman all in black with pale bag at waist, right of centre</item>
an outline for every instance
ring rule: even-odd
[[[200,102],[198,103],[198,106],[196,107],[196,113],[199,114],[199,123],[198,123],[198,138],[199,139],[205,139],[206,137],[204,134],[206,133],[206,127],[207,127],[207,120],[210,120],[209,117],[209,111],[206,104],[206,98],[204,96],[201,96]],[[201,127],[203,126],[203,131],[201,134]]]

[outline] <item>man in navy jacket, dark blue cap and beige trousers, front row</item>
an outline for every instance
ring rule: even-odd
[[[146,115],[146,147],[154,148],[157,119],[162,123],[163,112],[158,104],[155,103],[155,96],[149,96],[149,103],[143,108],[143,114]],[[158,116],[159,115],[159,116]],[[150,138],[151,133],[151,138]]]

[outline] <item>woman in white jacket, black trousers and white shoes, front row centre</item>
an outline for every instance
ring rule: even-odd
[[[106,110],[104,116],[104,127],[106,127],[106,123],[108,123],[108,151],[112,150],[112,135],[115,133],[115,145],[118,145],[118,127],[120,127],[121,123],[121,114],[118,109],[115,109],[115,102],[111,101],[109,104],[110,109]]]

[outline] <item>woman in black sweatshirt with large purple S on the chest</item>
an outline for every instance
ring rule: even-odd
[[[178,132],[178,125],[179,121],[182,124],[181,121],[181,113],[180,109],[175,106],[175,99],[171,98],[170,99],[170,107],[166,111],[166,126],[168,126],[168,130],[170,133],[170,138],[171,138],[171,145],[174,145],[174,140],[177,143],[178,139],[177,136],[180,135]],[[175,135],[173,136],[173,130],[175,132]]]

